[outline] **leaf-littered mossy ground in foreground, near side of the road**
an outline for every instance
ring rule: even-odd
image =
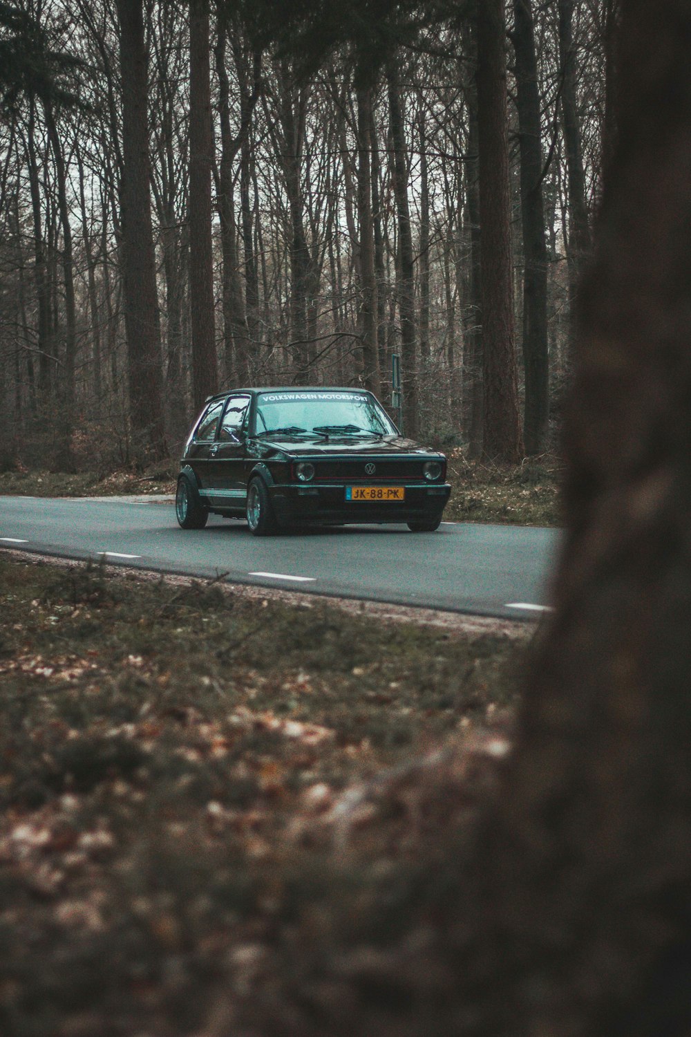
[[[409,1018],[535,625],[15,553],[0,602],[0,1033]]]

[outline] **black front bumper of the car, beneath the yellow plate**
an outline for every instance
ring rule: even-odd
[[[353,485],[353,483],[348,483]],[[291,523],[407,523],[441,516],[451,496],[449,483],[405,484],[403,501],[346,501],[345,483],[273,485],[268,487],[276,517]]]

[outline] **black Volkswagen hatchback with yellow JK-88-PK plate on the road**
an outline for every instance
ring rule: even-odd
[[[451,487],[442,453],[404,439],[362,389],[238,389],[211,396],[188,440],[175,512],[291,524],[407,523],[435,530]]]

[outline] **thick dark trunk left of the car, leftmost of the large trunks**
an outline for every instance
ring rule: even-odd
[[[161,328],[151,228],[147,54],[142,0],[116,0],[122,87],[122,280],[135,458],[166,453]]]

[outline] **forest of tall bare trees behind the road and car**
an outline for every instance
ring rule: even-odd
[[[391,405],[393,357],[407,435],[556,449],[617,17],[0,4],[0,467],[173,457],[226,386]]]

